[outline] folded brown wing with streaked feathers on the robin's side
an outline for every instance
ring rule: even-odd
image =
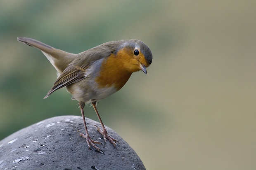
[[[50,91],[47,93],[47,95],[44,98],[47,98],[49,95],[51,95],[53,92],[58,90],[59,88],[68,86],[70,84],[76,83],[80,81],[81,79],[84,79],[85,75],[85,69],[88,68],[88,65],[84,68],[77,68],[74,65],[69,65],[61,75],[59,75],[59,78],[56,80]]]

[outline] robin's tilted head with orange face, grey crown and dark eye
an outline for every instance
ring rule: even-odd
[[[152,63],[152,53],[149,47],[140,40],[121,40],[116,56],[130,72],[142,70],[147,74],[146,68]]]

